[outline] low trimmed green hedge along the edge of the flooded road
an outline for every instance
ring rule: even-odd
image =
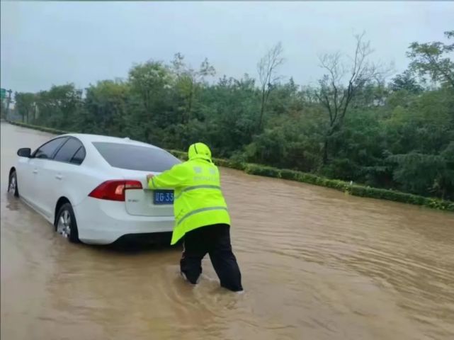
[[[45,128],[42,126],[30,125],[26,123],[11,122],[13,125],[22,126],[24,128],[30,128],[34,130],[40,130],[43,132],[49,132],[57,135],[64,135],[66,131],[55,130],[52,128]],[[168,150],[178,159],[188,159],[188,154],[179,150]],[[367,198],[378,198],[382,200],[392,200],[400,203],[409,203],[414,205],[424,205],[428,208],[446,210],[454,212],[454,202],[449,200],[439,200],[438,198],[429,198],[424,196],[413,195],[412,193],[402,193],[399,191],[392,191],[380,188],[370,188],[369,186],[360,186],[358,184],[350,184],[346,181],[340,181],[338,179],[327,179],[314,174],[307,174],[301,171],[289,170],[289,169],[277,169],[271,166],[263,166],[260,164],[249,164],[235,162],[230,159],[216,159],[213,158],[213,162],[218,166],[226,168],[238,169],[245,171],[247,174],[273,177],[276,179],[287,179],[290,181],[297,181],[302,183],[314,184],[315,186],[325,186],[327,188],[333,188],[338,191],[343,191],[353,196],[367,197]]]

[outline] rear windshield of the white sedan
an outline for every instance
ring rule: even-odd
[[[114,168],[162,172],[180,163],[162,149],[110,142],[93,142],[93,145]]]

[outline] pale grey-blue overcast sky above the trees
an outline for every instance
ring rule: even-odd
[[[454,29],[454,2],[4,2],[1,87],[39,91],[74,82],[127,77],[136,62],[194,67],[205,57],[217,76],[256,77],[260,57],[281,41],[283,76],[314,84],[317,56],[352,52],[365,30],[373,58],[408,64],[410,42],[443,40]]]

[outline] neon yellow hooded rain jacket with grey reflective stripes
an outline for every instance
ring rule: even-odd
[[[230,225],[229,212],[220,187],[220,174],[203,143],[189,147],[188,161],[154,176],[150,189],[174,190],[175,227],[171,244],[186,232],[207,225]]]

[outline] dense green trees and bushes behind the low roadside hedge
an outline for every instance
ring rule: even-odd
[[[339,54],[321,58],[327,75],[317,86],[276,76],[283,62],[277,45],[259,62],[259,81],[247,74],[208,81],[215,69],[207,60],[192,69],[177,54],[169,64],[136,64],[127,79],[98,81],[86,91],[67,84],[16,94],[16,112],[57,130],[128,136],[166,149],[201,141],[237,164],[453,200],[454,44],[412,43],[409,69],[387,83],[385,70],[369,62],[368,43],[356,38],[351,65]]]

